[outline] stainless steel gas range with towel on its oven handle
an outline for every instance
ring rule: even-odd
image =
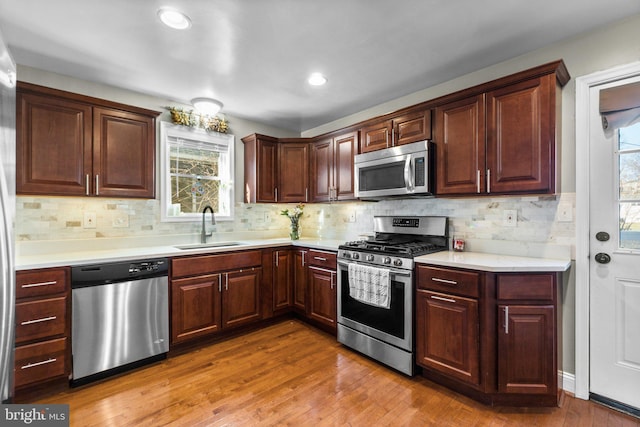
[[[378,216],[374,231],[338,248],[338,341],[413,375],[413,258],[448,249],[448,219]]]

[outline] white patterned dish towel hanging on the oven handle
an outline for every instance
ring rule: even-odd
[[[365,304],[391,306],[391,273],[385,268],[349,264],[349,296]]]

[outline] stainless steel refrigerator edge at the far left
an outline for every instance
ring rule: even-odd
[[[15,329],[16,65],[0,33],[0,394],[13,388]]]

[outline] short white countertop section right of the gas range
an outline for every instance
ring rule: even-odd
[[[414,260],[419,264],[466,268],[469,270],[496,273],[566,271],[571,266],[571,260],[569,259],[531,258],[453,251],[436,252],[434,254],[417,257]]]

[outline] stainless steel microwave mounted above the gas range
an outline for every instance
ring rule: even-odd
[[[385,148],[354,157],[356,197],[433,196],[433,156],[429,141]]]

